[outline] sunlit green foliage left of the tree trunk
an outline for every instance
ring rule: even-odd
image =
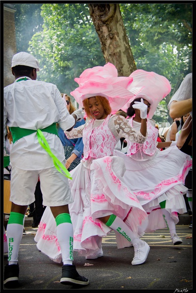
[[[86,68],[105,64],[87,4],[43,4],[43,31],[30,41],[29,51],[40,60],[38,78],[70,93]]]

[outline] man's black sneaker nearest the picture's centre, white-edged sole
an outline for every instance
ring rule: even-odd
[[[62,278],[60,282],[64,285],[77,284],[86,286],[89,284],[89,280],[86,277],[78,274],[74,264],[64,264],[62,266]]]

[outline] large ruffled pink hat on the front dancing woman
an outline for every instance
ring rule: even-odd
[[[83,101],[94,96],[105,97],[112,112],[122,109],[130,100],[133,93],[128,90],[133,78],[131,76],[118,77],[116,67],[107,63],[104,66],[96,66],[86,69],[79,78],[74,78],[79,84],[70,94],[74,97],[79,107],[83,107]]]

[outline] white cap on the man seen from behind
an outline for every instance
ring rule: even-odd
[[[37,71],[39,71],[39,62],[38,60],[31,54],[27,52],[20,52],[13,56],[11,68],[15,67],[17,65],[24,65],[29,66],[32,68],[36,68]]]

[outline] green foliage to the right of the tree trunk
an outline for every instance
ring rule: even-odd
[[[192,4],[121,3],[120,10],[137,69],[153,71],[171,83],[153,119],[172,122],[167,104],[184,76],[192,72]]]

